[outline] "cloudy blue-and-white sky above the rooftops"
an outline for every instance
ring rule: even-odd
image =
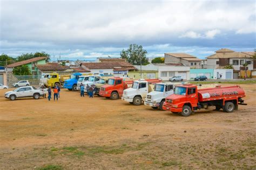
[[[118,57],[133,43],[148,57],[255,48],[255,1],[0,2],[0,53],[10,56]]]

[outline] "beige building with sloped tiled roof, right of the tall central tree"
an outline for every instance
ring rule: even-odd
[[[190,68],[201,68],[201,59],[186,53],[165,53],[165,63],[183,63]]]

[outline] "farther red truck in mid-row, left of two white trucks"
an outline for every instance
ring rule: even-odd
[[[102,86],[99,90],[99,95],[111,98],[112,100],[117,100],[120,96],[123,95],[123,91],[129,88],[134,80],[127,79],[125,80],[122,77],[113,77],[109,79],[108,84]],[[160,79],[146,79],[149,82],[160,82]],[[130,85],[130,86],[129,86]]]

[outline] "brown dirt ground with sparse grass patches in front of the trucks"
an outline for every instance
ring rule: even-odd
[[[0,169],[255,169],[256,84],[240,86],[247,106],[189,117],[65,89],[55,102],[0,90]]]

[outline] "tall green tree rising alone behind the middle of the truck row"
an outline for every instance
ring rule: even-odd
[[[149,61],[146,60],[146,54],[147,51],[141,45],[137,44],[131,44],[128,49],[123,49],[120,52],[121,58],[126,59],[132,65],[140,65],[140,61],[142,65],[149,64]]]

